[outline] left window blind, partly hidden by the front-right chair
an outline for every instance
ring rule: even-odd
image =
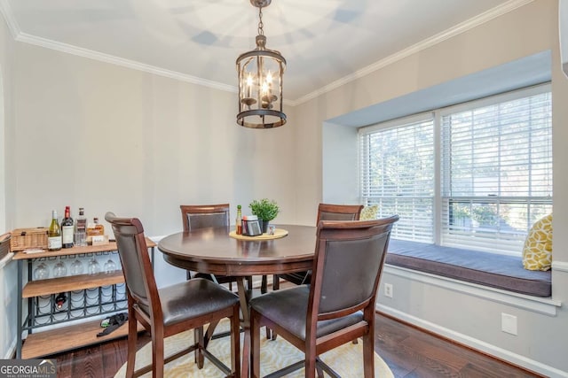
[[[393,238],[432,243],[434,120],[400,120],[359,130],[361,197],[379,216],[398,214]]]

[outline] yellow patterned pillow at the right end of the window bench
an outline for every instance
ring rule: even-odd
[[[523,266],[528,270],[548,270],[552,265],[552,214],[537,220],[523,247]]]

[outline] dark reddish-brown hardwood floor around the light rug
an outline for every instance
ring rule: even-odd
[[[430,335],[382,314],[376,315],[375,351],[396,378],[413,377],[538,377],[459,344]],[[150,341],[146,334],[139,346]],[[126,339],[51,356],[58,378],[107,378],[126,361]],[[379,378],[379,377],[377,377]]]

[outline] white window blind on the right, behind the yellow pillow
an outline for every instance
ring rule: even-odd
[[[552,100],[534,91],[441,114],[442,244],[518,254],[552,211]]]

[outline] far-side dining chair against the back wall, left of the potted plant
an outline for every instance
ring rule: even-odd
[[[229,204],[182,204],[179,206],[184,225],[184,231],[192,231],[199,228],[227,228],[229,233],[230,205]],[[229,289],[233,289],[236,278],[229,275],[209,274],[196,272],[193,277],[205,278],[217,283],[228,283]],[[191,279],[191,272],[187,271],[187,279]],[[248,289],[252,289],[252,277],[247,277]]]

